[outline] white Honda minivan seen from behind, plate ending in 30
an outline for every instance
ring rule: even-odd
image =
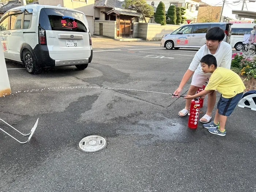
[[[43,67],[75,65],[85,69],[93,58],[91,34],[83,12],[49,5],[26,5],[0,20],[5,59],[23,62],[30,74]]]

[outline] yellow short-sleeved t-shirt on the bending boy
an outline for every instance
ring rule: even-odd
[[[234,71],[217,67],[212,73],[205,90],[217,90],[224,98],[231,98],[245,90],[244,82]]]

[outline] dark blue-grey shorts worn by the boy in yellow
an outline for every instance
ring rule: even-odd
[[[219,114],[223,116],[230,116],[230,114],[233,112],[233,110],[236,108],[237,103],[242,98],[243,93],[239,93],[236,96],[232,98],[224,98],[221,95],[221,98],[219,98],[219,102],[217,104],[217,109],[219,109]]]

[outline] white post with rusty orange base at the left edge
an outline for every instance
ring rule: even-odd
[[[0,97],[5,97],[10,95],[12,92],[7,74],[2,44],[0,45],[0,77]]]

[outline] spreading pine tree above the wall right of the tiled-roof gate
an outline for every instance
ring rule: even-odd
[[[154,15],[154,9],[148,5],[146,0],[124,0],[124,8],[140,11],[143,15],[145,23],[147,23],[146,17]]]

